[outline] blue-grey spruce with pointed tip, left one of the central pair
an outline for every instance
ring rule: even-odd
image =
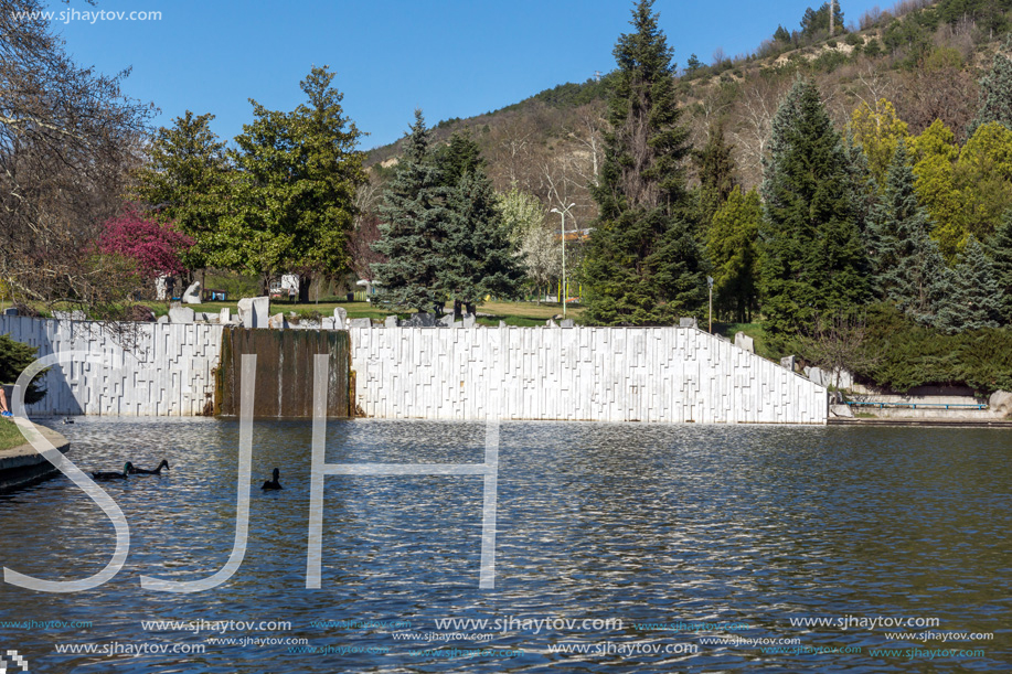
[[[441,181],[429,131],[422,110],[416,110],[404,156],[380,206],[381,237],[373,248],[387,258],[373,265],[380,301],[440,313],[446,298],[439,288],[439,271],[445,264],[449,218]]]

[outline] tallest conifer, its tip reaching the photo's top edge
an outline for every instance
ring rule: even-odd
[[[652,0],[632,11],[636,32],[615,46],[618,72],[608,101],[610,130],[599,183],[599,217],[583,276],[585,319],[605,325],[670,324],[702,312],[704,260],[695,238],[683,163],[674,71]]]

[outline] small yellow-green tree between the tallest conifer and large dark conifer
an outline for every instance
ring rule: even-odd
[[[739,323],[749,321],[758,308],[756,238],[761,218],[758,193],[752,190],[743,194],[742,189],[735,186],[713,216],[706,239],[717,313],[734,317]]]

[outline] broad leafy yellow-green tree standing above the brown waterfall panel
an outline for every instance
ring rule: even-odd
[[[255,119],[235,139],[241,180],[230,229],[239,257],[251,271],[298,274],[303,302],[318,275],[348,271],[355,191],[367,180],[361,133],[332,81],[313,67],[299,83],[307,101],[291,113],[252,101]]]

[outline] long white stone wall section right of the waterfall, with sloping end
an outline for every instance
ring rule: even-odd
[[[694,328],[352,328],[370,417],[825,424],[825,388]],[[498,409],[488,409],[490,402]]]

